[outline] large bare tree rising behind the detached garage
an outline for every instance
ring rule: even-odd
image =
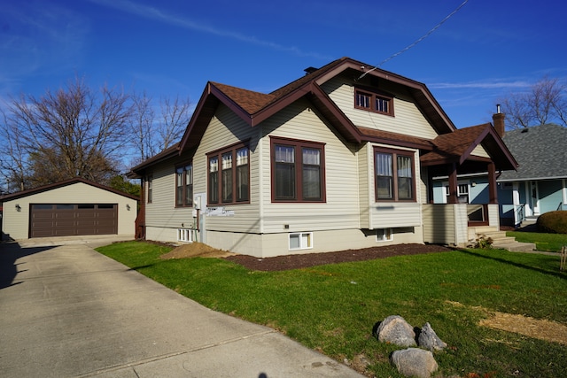
[[[3,125],[9,181],[19,190],[73,177],[108,182],[132,112],[127,94],[107,86],[96,92],[78,78],[40,97],[12,99]]]

